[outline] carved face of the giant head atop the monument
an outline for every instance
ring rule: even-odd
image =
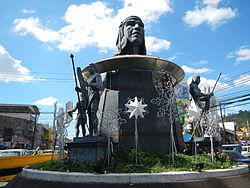
[[[140,45],[144,39],[144,24],[141,20],[131,18],[125,23],[124,35],[130,43]]]

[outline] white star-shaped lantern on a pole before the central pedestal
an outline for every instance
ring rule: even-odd
[[[135,116],[135,119],[137,119],[139,116],[144,118],[144,114],[146,111],[144,110],[145,107],[147,107],[147,104],[142,104],[143,100],[138,100],[137,97],[133,99],[130,99],[125,106],[128,108],[127,112],[130,113],[129,119],[131,119],[133,116]]]

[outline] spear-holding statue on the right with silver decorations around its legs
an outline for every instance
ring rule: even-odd
[[[191,102],[188,108],[188,114],[190,123],[192,125],[192,133],[190,141],[193,142],[194,150],[196,154],[196,143],[199,143],[207,152],[213,156],[214,148],[220,151],[220,127],[217,119],[217,111],[215,100],[213,98],[213,91],[217,85],[217,82],[221,76],[217,78],[215,85],[210,93],[202,93],[198,87],[200,84],[200,76],[195,75],[192,77],[190,84]],[[210,148],[209,139],[210,138]],[[213,158],[212,158],[213,160]]]

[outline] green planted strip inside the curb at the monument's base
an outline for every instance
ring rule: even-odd
[[[105,159],[99,159],[96,163],[77,161],[72,159],[46,161],[28,166],[30,169],[61,171],[61,172],[85,172],[85,173],[150,173],[169,171],[195,171],[196,164],[202,163],[204,169],[230,168],[235,162],[222,153],[214,154],[211,161],[209,154],[203,153],[197,156],[185,154],[172,155],[139,152],[139,164],[134,165],[134,152],[118,151],[113,154],[110,165]]]

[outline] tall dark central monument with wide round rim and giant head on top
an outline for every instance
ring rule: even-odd
[[[127,101],[138,97],[148,105],[148,114],[138,124],[139,151],[182,151],[174,86],[184,78],[184,71],[170,61],[146,55],[144,24],[137,16],[129,16],[121,22],[116,47],[115,56],[82,70],[85,81],[92,79],[93,66],[104,78],[97,111],[98,138],[111,137],[120,149],[134,147],[134,121],[124,111]],[[88,81],[86,85],[89,86]]]

